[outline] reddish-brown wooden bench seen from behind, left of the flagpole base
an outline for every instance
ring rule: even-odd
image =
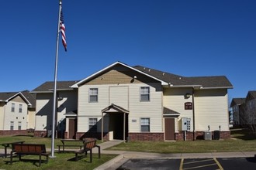
[[[21,155],[39,155],[39,166],[41,165],[42,156],[46,156],[48,162],[48,157],[50,152],[47,152],[45,145],[41,144],[13,144],[12,151],[11,151],[11,161],[10,164],[12,165],[12,157],[13,154],[19,155],[19,161],[22,161]]]

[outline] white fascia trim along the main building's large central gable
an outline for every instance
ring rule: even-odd
[[[142,73],[142,74],[144,74],[144,75],[146,75],[146,76],[149,76],[150,78],[153,78],[154,80],[160,81],[162,85],[168,85],[168,83],[166,83],[166,82],[164,82],[164,81],[162,81],[162,80],[159,80],[159,79],[157,79],[157,78],[154,77],[154,76],[150,76],[150,75],[148,75],[147,73],[144,73],[144,72],[142,72],[142,71],[140,71],[140,70],[134,69],[132,66],[128,66],[128,65],[126,65],[126,64],[124,64],[124,63],[121,63],[121,62],[116,62],[116,63],[112,63],[112,64],[109,65],[109,66],[106,66],[104,69],[99,70],[98,72],[92,74],[91,76],[86,77],[85,79],[79,81],[78,83],[75,83],[74,85],[71,86],[71,88],[78,88],[79,84],[84,83],[86,80],[92,78],[93,76],[98,75],[99,73],[102,73],[102,72],[105,71],[105,70],[108,70],[110,67],[115,66],[116,64],[121,64],[121,65],[123,65],[123,66],[126,66],[127,68],[130,68],[131,70],[137,71],[138,73]]]

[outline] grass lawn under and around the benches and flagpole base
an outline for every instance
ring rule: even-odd
[[[16,135],[16,136],[1,136],[0,144],[8,143],[13,141],[25,141],[28,144],[45,144],[47,148],[51,148],[51,138],[37,138],[33,135]],[[101,143],[101,141],[97,141]],[[81,145],[80,142],[69,142],[70,145]],[[57,149],[57,145],[61,145],[60,139],[54,139],[54,148]],[[0,145],[0,148],[4,148]],[[75,149],[78,149],[77,147]],[[9,148],[10,151],[10,148]],[[8,153],[9,153],[8,151]],[[3,154],[3,153],[2,153]],[[92,163],[89,162],[89,155],[87,158],[81,158],[78,162],[74,162],[74,153],[54,153],[56,158],[49,158],[49,162],[42,163],[39,168],[37,155],[27,155],[22,157],[22,159],[28,161],[19,162],[19,158],[14,158],[12,165],[9,165],[10,158],[1,158],[0,157],[0,169],[94,169],[99,165],[108,162],[112,158],[115,158],[117,155],[101,155],[101,158],[98,158],[98,153],[93,154]],[[45,157],[42,157],[45,160]]]

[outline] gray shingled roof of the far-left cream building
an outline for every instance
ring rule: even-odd
[[[36,94],[29,93],[28,90],[24,90],[21,92],[2,92],[0,93],[0,101],[6,101],[12,99],[12,97],[15,97],[18,95],[18,93],[22,93],[24,97],[26,97],[26,100],[29,101],[31,104],[31,107],[36,107]]]

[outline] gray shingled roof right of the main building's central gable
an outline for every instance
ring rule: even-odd
[[[173,86],[202,86],[202,87],[223,87],[233,88],[233,85],[226,76],[179,76],[172,73],[166,73],[160,70],[146,68],[144,66],[133,66],[150,76],[157,77],[159,80],[171,83]]]

